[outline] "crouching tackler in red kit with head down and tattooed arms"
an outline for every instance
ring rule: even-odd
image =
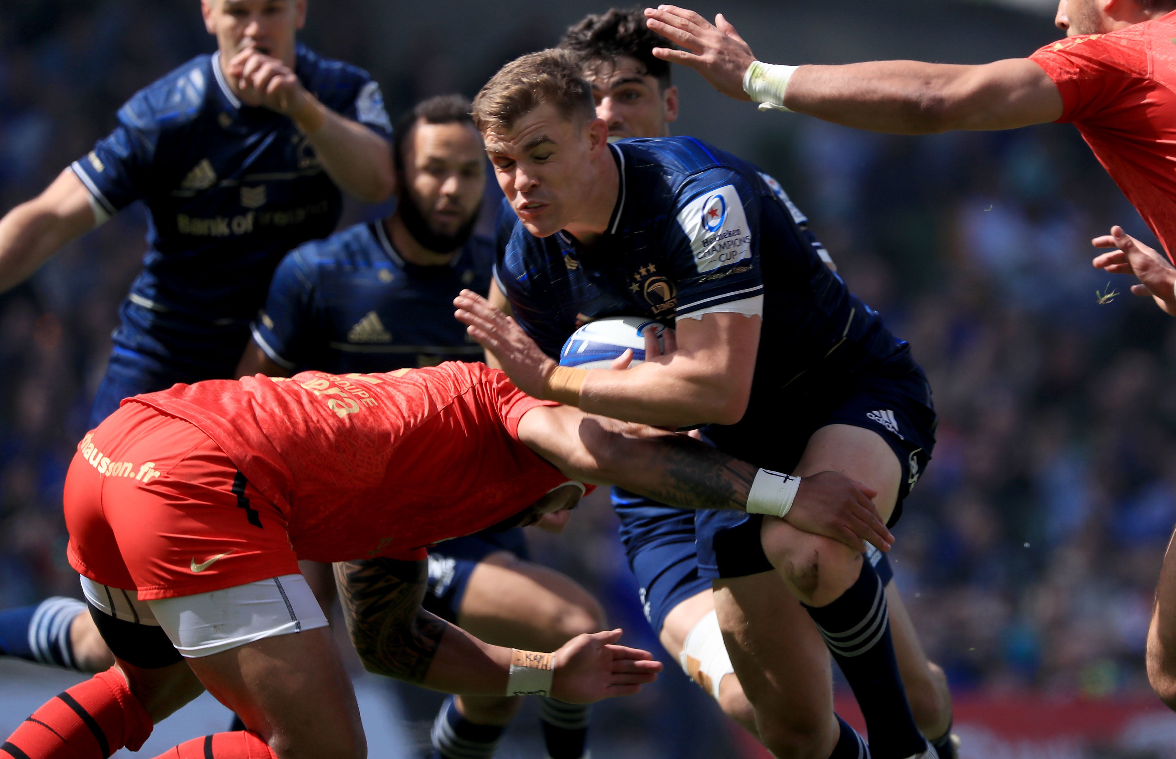
[[[554,654],[520,652],[423,612],[428,546],[569,508],[584,481],[740,510],[783,477],[456,362],[176,385],[123,401],[78,448],[65,487],[68,558],[118,664],[38,710],[0,757],[136,750],[205,688],[248,730],[165,757],[363,757],[354,693],[300,558],[347,562],[353,638],[386,674],[572,703],[634,693],[661,665],[615,645],[619,630]],[[795,495],[799,527],[889,548],[873,491],[823,472]]]

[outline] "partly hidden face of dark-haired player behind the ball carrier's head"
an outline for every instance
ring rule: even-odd
[[[677,119],[677,87],[663,91],[641,61],[628,55],[593,61],[584,78],[609,138],[669,137],[669,125]]]

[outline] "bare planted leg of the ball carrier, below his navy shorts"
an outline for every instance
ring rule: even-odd
[[[715,580],[727,653],[769,750],[833,750],[829,654],[813,620],[775,572]],[[824,754],[822,754],[824,755]]]

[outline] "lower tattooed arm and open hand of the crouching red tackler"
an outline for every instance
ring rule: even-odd
[[[446,693],[503,695],[513,650],[492,646],[421,608],[425,561],[367,559],[335,565],[343,617],[363,666]],[[661,664],[613,645],[620,630],[577,635],[554,653],[550,694],[589,704],[653,683]]]

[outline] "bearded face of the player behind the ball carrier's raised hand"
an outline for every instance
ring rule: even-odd
[[[405,184],[432,232],[455,235],[477,215],[486,189],[482,138],[470,124],[413,127],[405,146]]]

